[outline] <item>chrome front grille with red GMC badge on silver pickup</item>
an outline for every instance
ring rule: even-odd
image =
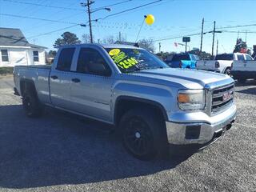
[[[234,100],[234,83],[215,88],[212,92],[212,114],[217,113],[220,110],[230,106]]]

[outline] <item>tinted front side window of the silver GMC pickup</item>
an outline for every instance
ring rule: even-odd
[[[110,75],[110,68],[97,50],[82,48],[78,57],[77,71],[79,73]]]

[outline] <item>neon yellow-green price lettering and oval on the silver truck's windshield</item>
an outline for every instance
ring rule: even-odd
[[[138,61],[135,58],[128,57],[125,52],[119,49],[113,49],[109,52],[110,57],[122,69],[129,69],[132,66],[138,64]]]

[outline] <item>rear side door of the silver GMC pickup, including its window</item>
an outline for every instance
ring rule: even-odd
[[[70,72],[74,47],[62,48],[58,54],[58,61],[54,62],[50,72],[50,99],[54,106],[70,109]]]

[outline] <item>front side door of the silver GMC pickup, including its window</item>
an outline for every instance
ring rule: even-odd
[[[70,102],[78,113],[111,122],[113,78],[103,55],[94,48],[80,48],[76,72],[72,74]]]

